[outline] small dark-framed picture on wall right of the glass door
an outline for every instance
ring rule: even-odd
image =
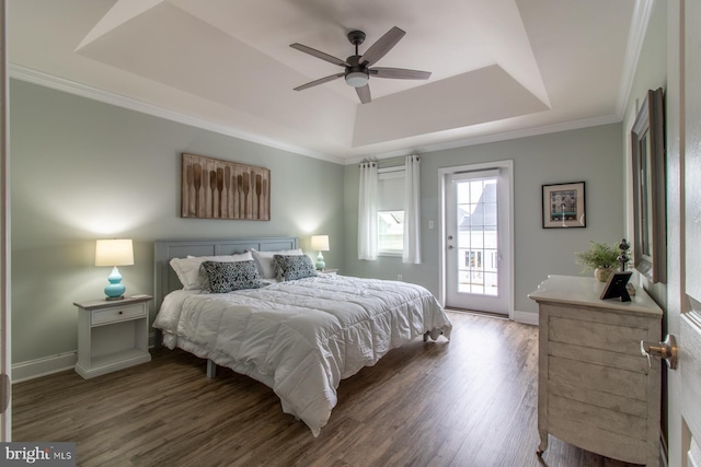
[[[543,185],[543,229],[586,227],[584,182]]]

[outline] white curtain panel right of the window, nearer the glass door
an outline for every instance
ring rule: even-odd
[[[402,262],[421,264],[421,160],[407,155],[404,162],[404,249]]]

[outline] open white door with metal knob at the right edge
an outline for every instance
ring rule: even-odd
[[[670,466],[701,466],[701,2],[668,8],[668,331],[679,366],[668,376]]]

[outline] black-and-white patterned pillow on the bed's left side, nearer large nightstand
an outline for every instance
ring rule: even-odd
[[[205,284],[205,293],[227,293],[234,290],[257,289],[263,287],[255,262],[218,262],[204,261],[199,266]]]

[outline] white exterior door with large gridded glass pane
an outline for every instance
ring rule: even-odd
[[[446,174],[445,304],[509,315],[509,170]]]

